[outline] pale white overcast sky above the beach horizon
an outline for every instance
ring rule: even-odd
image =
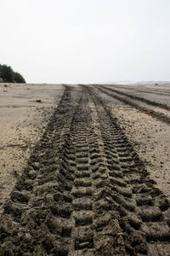
[[[0,0],[0,24],[28,83],[170,80],[170,0]]]

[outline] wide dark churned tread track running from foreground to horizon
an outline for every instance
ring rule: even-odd
[[[139,106],[110,87],[65,85],[4,205],[0,255],[170,255],[167,196],[106,96]],[[169,124],[167,112],[138,108]]]

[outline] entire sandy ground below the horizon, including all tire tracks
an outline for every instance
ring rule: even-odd
[[[0,84],[0,255],[170,255],[170,84]]]

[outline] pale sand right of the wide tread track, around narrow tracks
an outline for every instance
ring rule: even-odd
[[[150,116],[150,111],[153,110],[156,113],[163,113],[167,118],[170,117],[170,84],[116,85],[105,88],[109,88],[109,93],[112,95],[103,95],[105,101],[108,104],[110,102],[112,113],[117,117],[129,141],[133,143],[133,148],[139,154],[139,158],[143,160],[150,177],[170,197],[170,123],[164,117],[161,119],[154,114]],[[143,98],[153,104],[149,105],[147,102],[116,94],[116,91]],[[113,96],[119,96],[120,100]],[[122,102],[121,99],[136,103],[139,108],[134,108],[130,104]],[[154,106],[154,103],[159,103],[161,108]],[[144,113],[143,108],[146,108],[148,113]]]

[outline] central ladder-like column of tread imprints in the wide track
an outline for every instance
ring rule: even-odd
[[[94,255],[92,196],[95,188],[92,172],[89,168],[88,133],[90,134],[92,131],[90,129],[87,103],[87,96],[82,93],[79,108],[77,108],[77,113],[73,119],[71,132],[75,156],[75,173],[74,186],[71,189],[73,198],[71,219],[74,222],[74,227],[71,230],[72,247],[69,250],[69,256],[82,255],[83,250],[86,250],[86,255]]]

